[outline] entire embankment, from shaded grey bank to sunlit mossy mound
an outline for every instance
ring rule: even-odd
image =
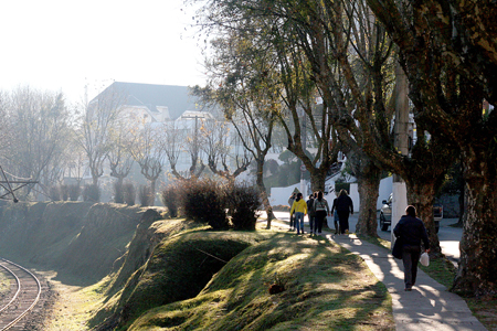
[[[0,255],[97,293],[84,330],[394,329],[384,286],[322,237],[218,232],[162,215],[116,204],[2,207]],[[269,295],[275,282],[284,290]]]

